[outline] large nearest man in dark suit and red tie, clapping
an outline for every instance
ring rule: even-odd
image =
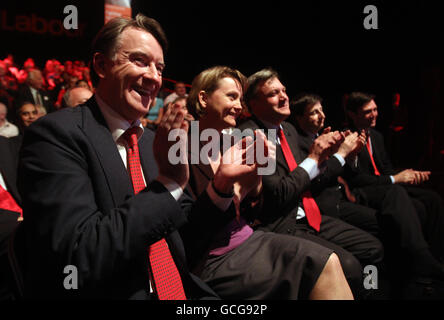
[[[188,129],[186,111],[168,110],[156,135],[139,121],[161,87],[166,46],[157,21],[113,19],[93,43],[96,95],[25,133],[18,181],[25,297],[216,297],[188,271],[177,232],[187,221],[189,171],[186,161],[169,162],[168,134]]]

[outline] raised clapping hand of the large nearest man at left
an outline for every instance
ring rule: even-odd
[[[187,157],[189,123],[184,121],[186,114],[187,111],[180,106],[168,108],[157,127],[153,144],[154,158],[159,167],[159,175],[174,180],[182,190],[185,189],[190,177]],[[168,152],[171,146],[177,142],[168,141],[168,135],[175,129],[181,129],[178,139],[180,150],[184,152],[181,161],[173,165],[168,158]]]

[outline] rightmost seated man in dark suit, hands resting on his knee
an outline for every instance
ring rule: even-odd
[[[397,204],[397,210],[401,212],[399,218],[403,219],[399,222],[411,226],[402,239],[411,239],[412,232],[419,237],[415,241],[405,241],[403,247],[408,247],[411,254],[412,249],[417,251],[412,254],[412,260],[414,264],[421,264],[418,266],[420,273],[444,279],[444,267],[436,261],[442,261],[444,254],[442,198],[432,190],[416,186],[427,181],[430,172],[413,169],[395,172],[385,150],[383,136],[374,129],[378,117],[374,96],[362,92],[351,93],[346,112],[353,129],[367,132],[366,148],[358,154],[357,174],[350,178],[350,186],[360,192],[370,206],[377,205],[387,192],[396,189],[396,193],[404,199]]]

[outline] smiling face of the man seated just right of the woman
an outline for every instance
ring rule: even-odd
[[[290,103],[285,86],[273,77],[258,86],[250,101],[253,113],[261,120],[279,125],[290,115]]]

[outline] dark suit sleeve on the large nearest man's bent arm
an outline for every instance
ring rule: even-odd
[[[156,182],[112,207],[106,183],[92,181],[103,173],[89,140],[74,125],[47,117],[26,132],[19,164],[26,242],[32,248],[26,252],[28,270],[51,261],[55,277],[75,265],[79,286],[94,287],[146,259],[147,246],[182,225],[185,216]],[[106,196],[112,209],[105,211]]]

